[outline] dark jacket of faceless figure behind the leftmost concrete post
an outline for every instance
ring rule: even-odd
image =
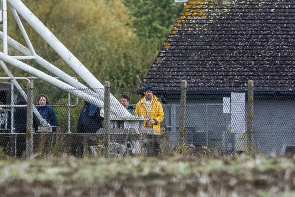
[[[21,97],[14,105],[27,105],[27,101]],[[26,133],[27,131],[27,107],[16,107],[13,113],[13,128],[15,133]],[[33,125],[37,128],[39,121],[36,115],[33,115]]]

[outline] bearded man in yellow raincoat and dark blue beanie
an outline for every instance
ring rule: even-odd
[[[160,134],[160,122],[164,120],[162,104],[153,93],[153,86],[145,87],[145,96],[136,104],[135,115],[150,119],[145,128],[153,128]]]

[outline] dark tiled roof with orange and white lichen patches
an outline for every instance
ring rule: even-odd
[[[189,1],[141,86],[295,86],[295,1]]]

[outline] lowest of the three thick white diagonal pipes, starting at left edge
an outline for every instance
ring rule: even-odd
[[[32,66],[29,66],[29,65],[27,65],[21,61],[18,61],[14,58],[11,58],[10,56],[8,56],[2,52],[0,52],[0,59],[11,64],[12,66],[15,66],[23,71],[26,71],[32,75],[35,75],[39,79],[49,82],[50,84],[53,84],[54,86],[56,86],[60,89],[64,89],[66,92],[69,92],[69,93],[71,93],[71,94],[75,95],[76,97],[79,97],[83,100],[86,100],[87,102],[89,102],[93,105],[96,105],[100,108],[104,107],[104,102],[102,102],[101,100],[99,100],[95,97],[92,97],[90,95],[87,95],[85,92],[82,92],[81,90],[76,89],[76,88],[70,86],[69,84],[66,84],[58,79],[55,79],[54,77],[52,77],[48,74],[45,74],[42,71],[39,71],[39,70],[33,68]],[[112,113],[114,113],[118,116],[120,115],[120,114],[115,113],[115,111],[112,108],[111,108],[111,110],[112,110]]]

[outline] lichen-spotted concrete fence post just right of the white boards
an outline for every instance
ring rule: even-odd
[[[248,80],[248,121],[247,121],[247,148],[248,150],[253,146],[253,133],[254,133],[254,124],[253,124],[253,109],[254,109],[254,82],[253,80]]]

